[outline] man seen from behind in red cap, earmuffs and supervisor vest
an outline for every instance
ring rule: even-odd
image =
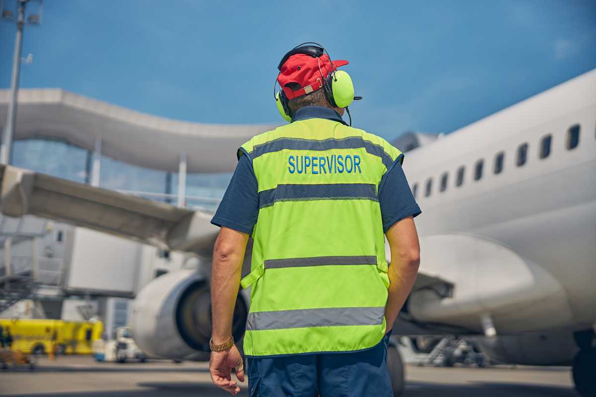
[[[290,123],[241,146],[213,217],[221,230],[209,368],[233,395],[240,387],[232,369],[241,382],[245,376],[232,338],[240,286],[251,288],[244,336],[250,396],[393,395],[386,351],[418,271],[413,218],[421,211],[403,154],[344,122],[359,99],[338,70],[346,64],[318,45],[283,57],[276,103]],[[241,279],[249,237],[251,271]]]

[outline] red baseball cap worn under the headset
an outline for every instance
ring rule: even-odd
[[[333,65],[331,64],[333,62]],[[294,99],[298,96],[306,95],[318,89],[321,89],[324,79],[336,68],[347,65],[347,61],[330,61],[327,54],[320,57],[306,54],[294,54],[287,58],[281,64],[280,74],[277,76],[277,82],[284,90],[288,99]],[[297,83],[302,87],[293,91],[286,85],[288,83]]]

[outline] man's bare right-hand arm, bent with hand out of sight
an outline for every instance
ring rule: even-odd
[[[389,296],[385,306],[389,331],[414,286],[420,264],[420,245],[412,217],[396,222],[385,235],[391,249],[391,265],[387,272],[390,282]]]

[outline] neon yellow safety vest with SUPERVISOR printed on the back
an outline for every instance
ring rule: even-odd
[[[259,217],[244,336],[249,356],[357,351],[386,324],[387,261],[377,189],[402,154],[386,140],[312,118],[253,137]]]

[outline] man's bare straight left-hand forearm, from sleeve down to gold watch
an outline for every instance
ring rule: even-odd
[[[244,252],[249,235],[222,227],[213,249],[211,305],[213,343],[224,343],[232,336],[232,317],[240,286]]]

